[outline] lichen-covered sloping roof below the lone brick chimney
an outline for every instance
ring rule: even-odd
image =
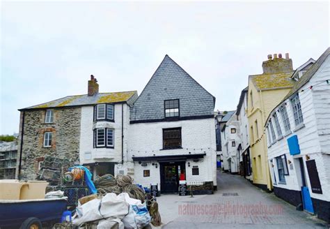
[[[137,98],[137,91],[120,91],[111,93],[98,93],[95,96],[88,96],[87,94],[79,96],[66,96],[64,98],[58,98],[54,101],[42,103],[39,105],[33,105],[28,108],[22,108],[20,110],[30,109],[42,109],[42,108],[63,108],[71,106],[81,105],[94,105],[98,103],[122,103]],[[132,101],[134,103],[134,101]]]

